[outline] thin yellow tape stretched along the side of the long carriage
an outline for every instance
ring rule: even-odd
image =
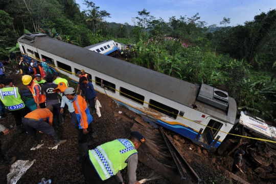
[[[36,57],[35,57],[35,58],[36,58]],[[41,62],[41,59],[39,59],[39,58],[36,58],[36,59],[40,60],[40,62]],[[50,64],[50,65],[51,65],[51,64]],[[55,65],[51,65],[51,66],[56,67],[56,68],[59,68],[59,67],[57,67],[57,66],[55,66]],[[64,70],[64,69],[62,69],[62,68],[59,68],[59,69],[62,70],[62,71],[65,71],[65,72],[67,72],[67,73],[71,73],[71,74],[76,75],[76,73],[73,73],[73,72]],[[91,80],[91,81],[95,81],[95,83],[101,84],[100,82],[98,82],[98,81],[96,81],[96,80],[93,80],[93,79],[90,79],[90,80]],[[104,84],[103,84],[103,85],[104,85]],[[100,86],[100,85],[98,85],[98,86]],[[104,85],[104,86],[106,86],[106,85]],[[143,102],[143,103],[145,103],[145,104],[148,104],[148,105],[150,105],[150,106],[153,106],[153,107],[155,107],[155,108],[157,108],[157,109],[163,110],[163,111],[165,111],[165,112],[168,112],[168,113],[170,113],[170,114],[176,115],[176,116],[181,117],[181,118],[184,118],[184,119],[186,119],[186,120],[195,122],[195,123],[198,124],[198,125],[202,125],[202,126],[204,126],[204,127],[208,127],[208,128],[211,128],[211,129],[213,129],[213,130],[216,130],[216,131],[219,131],[219,132],[228,134],[228,135],[234,135],[234,136],[238,136],[238,137],[244,137],[244,138],[249,138],[249,139],[255,139],[255,140],[261,140],[261,141],[276,143],[276,141],[273,141],[273,140],[262,139],[262,138],[255,138],[255,137],[248,137],[248,136],[244,136],[244,135],[238,135],[238,134],[232,134],[232,133],[224,132],[224,131],[222,131],[222,130],[215,129],[214,127],[210,127],[210,126],[208,126],[208,125],[203,125],[203,124],[201,124],[201,123],[198,122],[198,121],[189,119],[189,118],[187,118],[187,117],[180,116],[180,115],[175,114],[175,113],[173,113],[173,112],[170,112],[170,111],[168,111],[168,110],[166,110],[166,109],[162,109],[162,108],[160,108],[160,107],[154,106],[154,105],[152,105],[152,104],[150,104],[150,103],[147,103],[147,101],[143,101],[143,100],[141,100],[141,99],[139,99],[139,98],[136,98],[136,97],[134,97],[134,96],[131,96],[131,95],[129,95],[129,94],[126,94],[126,93],[124,93],[124,92],[121,92],[120,90],[114,89],[114,88],[112,88],[112,87],[110,87],[110,86],[106,86],[106,87],[107,87],[107,88],[110,88],[110,89],[113,89],[114,91],[118,91],[119,93],[122,93],[122,94],[124,94],[124,95],[127,95],[127,96],[129,96],[129,97],[131,97],[131,98],[134,98],[134,99],[136,99],[136,100],[139,100],[139,101],[141,101],[141,102]],[[193,129],[193,130],[195,130],[195,129]],[[215,139],[216,139],[216,138],[215,138]]]

